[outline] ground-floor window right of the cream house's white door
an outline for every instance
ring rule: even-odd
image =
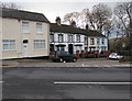
[[[45,49],[45,40],[34,40],[34,49]]]

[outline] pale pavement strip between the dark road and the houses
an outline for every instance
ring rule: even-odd
[[[9,59],[2,60],[0,67],[131,67],[131,64],[108,58],[79,58],[76,63],[53,63],[50,59]]]

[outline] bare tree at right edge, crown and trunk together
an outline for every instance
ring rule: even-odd
[[[132,49],[132,1],[118,3],[114,8],[114,15],[120,22],[122,37],[128,38],[127,45],[129,45],[129,49]]]

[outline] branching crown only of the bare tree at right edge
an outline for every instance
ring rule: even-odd
[[[124,34],[130,36],[132,32],[132,1],[118,3],[114,8],[114,14],[120,20]]]

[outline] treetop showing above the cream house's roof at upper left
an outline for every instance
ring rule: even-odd
[[[7,8],[7,9],[20,9],[21,7],[18,5],[14,2],[0,2],[0,8]]]

